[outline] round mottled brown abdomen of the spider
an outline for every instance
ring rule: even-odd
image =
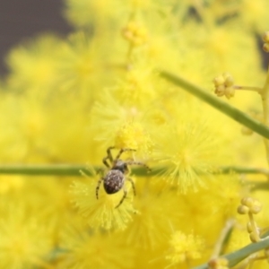
[[[117,193],[124,185],[125,175],[118,169],[111,169],[104,178],[104,189],[108,195]]]

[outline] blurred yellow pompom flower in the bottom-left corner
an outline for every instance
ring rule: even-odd
[[[53,249],[48,222],[29,205],[5,205],[0,218],[0,268],[32,268],[48,265],[44,258]]]

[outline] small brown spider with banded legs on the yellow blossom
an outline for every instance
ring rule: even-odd
[[[109,147],[107,150],[107,157],[103,159],[103,163],[106,167],[108,167],[108,173],[105,175],[105,177],[100,178],[96,187],[96,198],[98,199],[98,192],[100,189],[100,184],[102,181],[104,181],[104,189],[108,195],[112,195],[117,193],[121,188],[123,188],[124,195],[117,204],[115,208],[117,208],[120,204],[123,203],[123,201],[126,198],[127,190],[125,186],[125,181],[128,180],[131,182],[134,195],[135,195],[135,188],[134,188],[134,181],[132,178],[127,178],[126,174],[129,172],[128,165],[142,165],[148,170],[151,170],[146,164],[140,161],[122,161],[119,160],[119,157],[123,152],[132,151],[135,152],[134,149],[124,148],[120,149],[117,153],[116,158],[113,160],[111,150],[115,149],[115,147]],[[108,161],[111,163],[111,167],[108,164]]]

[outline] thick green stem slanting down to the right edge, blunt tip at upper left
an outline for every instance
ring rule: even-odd
[[[251,129],[257,134],[264,136],[267,139],[269,138],[269,128],[267,126],[259,123],[252,117],[249,117],[247,114],[243,113],[238,108],[231,107],[227,102],[217,99],[213,96],[213,94],[204,91],[204,89],[196,86],[191,82],[187,82],[186,80],[178,77],[175,74],[170,74],[169,72],[160,70],[159,74],[167,81],[172,82],[179,87],[182,87],[185,91],[194,94],[197,98],[204,100],[213,108],[216,108],[228,117],[233,118],[235,121],[239,122],[239,124],[247,126],[247,128]]]

